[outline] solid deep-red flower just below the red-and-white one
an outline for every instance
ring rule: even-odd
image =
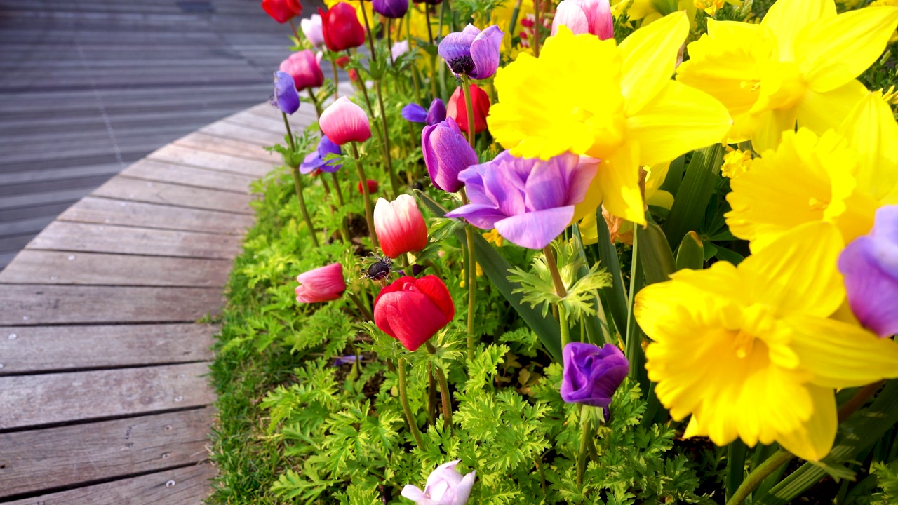
[[[401,277],[374,298],[374,324],[408,350],[417,350],[454,316],[449,289],[436,275]]]

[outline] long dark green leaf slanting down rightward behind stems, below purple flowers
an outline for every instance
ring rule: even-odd
[[[444,217],[445,213],[448,212],[422,191],[415,190],[415,195],[436,217]],[[463,229],[456,230],[454,235],[462,243],[462,246],[467,247],[467,239]],[[536,333],[536,336],[539,337],[542,345],[549,351],[552,358],[561,362],[561,332],[559,323],[549,316],[543,316],[540,311],[533,309],[533,307],[523,305],[521,303],[522,296],[512,293],[517,286],[507,279],[508,270],[512,269],[511,263],[497,253],[493,246],[479,234],[474,235],[474,250],[477,253],[477,262],[480,263],[483,273],[502,293],[502,296],[506,298],[508,305],[512,306],[517,314],[524,319],[524,322],[530,326],[530,329]]]

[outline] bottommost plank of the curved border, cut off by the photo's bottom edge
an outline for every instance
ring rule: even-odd
[[[215,467],[203,463],[11,501],[7,505],[201,505],[215,475]]]

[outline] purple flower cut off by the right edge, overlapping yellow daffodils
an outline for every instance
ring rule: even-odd
[[[880,337],[898,333],[898,205],[876,210],[868,235],[839,257],[851,311]]]

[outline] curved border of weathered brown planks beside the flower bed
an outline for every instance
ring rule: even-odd
[[[311,107],[291,122],[304,128]],[[298,129],[297,129],[298,131]],[[200,128],[68,208],[0,272],[0,502],[189,504],[209,492],[207,362],[267,103]]]

